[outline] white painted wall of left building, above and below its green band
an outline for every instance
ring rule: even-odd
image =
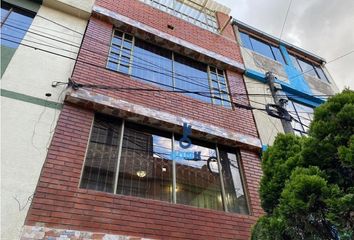
[[[62,38],[61,40],[80,46],[81,34],[39,16],[73,28],[82,34],[87,20],[41,6],[30,27],[30,31]],[[23,43],[74,58],[77,55],[75,53],[43,47],[26,40],[65,48],[76,53],[79,50],[29,32],[23,40]],[[46,99],[45,93],[51,93],[52,96],[47,98],[48,101],[62,102],[65,88],[52,88],[51,84],[53,81],[66,82],[72,74],[74,63],[74,60],[19,46],[3,75],[1,88],[41,99]],[[31,203],[27,200],[35,191],[58,116],[59,110],[1,97],[1,239],[19,239]]]

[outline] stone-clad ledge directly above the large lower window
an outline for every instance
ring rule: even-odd
[[[232,132],[228,129],[93,93],[84,89],[69,91],[66,95],[66,102],[175,133],[182,133],[183,123],[186,122],[192,125],[192,136],[195,138],[250,150],[260,151],[262,148],[260,139],[253,136]]]

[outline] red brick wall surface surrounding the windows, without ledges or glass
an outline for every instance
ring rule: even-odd
[[[99,0],[96,4],[124,14],[160,31],[241,62],[240,51],[227,27],[220,36],[156,10],[139,1]],[[223,21],[227,21],[225,17]],[[105,69],[113,25],[91,18],[73,73],[78,83],[116,87],[156,88]],[[232,29],[231,29],[232,30]],[[194,34],[191,34],[193,32]],[[222,47],[221,47],[222,46]],[[97,53],[94,53],[97,52]],[[231,94],[245,94],[242,75],[227,70]],[[197,120],[206,124],[258,137],[252,112],[227,109],[178,93],[112,90],[94,92]],[[242,95],[243,96],[243,95]],[[232,99],[248,104],[247,99]],[[263,213],[258,196],[261,176],[257,152],[241,149],[241,166],[250,215],[225,213],[149,199],[114,195],[79,188],[79,181],[95,112],[66,103],[48,151],[25,225],[44,223],[58,229],[104,232],[156,239],[248,239],[251,225]]]

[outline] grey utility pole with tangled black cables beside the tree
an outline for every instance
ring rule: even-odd
[[[285,133],[293,133],[293,127],[291,126],[291,116],[286,111],[286,104],[288,99],[283,96],[279,96],[279,90],[281,90],[281,85],[275,82],[275,77],[272,72],[266,73],[266,80],[269,84],[270,91],[272,93],[272,97],[275,102],[275,107],[278,110],[278,115],[283,125],[283,129]],[[269,113],[268,113],[269,114]]]

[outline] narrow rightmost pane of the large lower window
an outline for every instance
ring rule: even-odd
[[[238,159],[234,151],[219,149],[225,186],[225,203],[230,212],[248,214]]]

